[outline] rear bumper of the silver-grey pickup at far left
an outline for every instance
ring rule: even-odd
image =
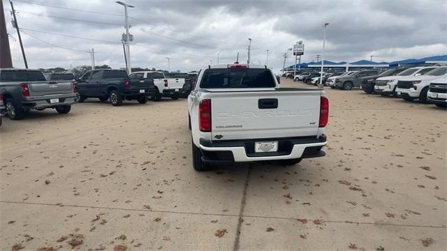
[[[45,96],[32,96],[22,100],[22,107],[25,109],[44,109],[57,107],[59,105],[73,105],[75,103],[76,94],[55,94]],[[51,102],[58,99],[59,102]]]

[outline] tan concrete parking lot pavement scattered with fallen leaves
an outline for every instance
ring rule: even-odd
[[[446,250],[446,111],[327,96],[328,154],[292,167],[195,172],[186,100],[4,119],[1,249]]]

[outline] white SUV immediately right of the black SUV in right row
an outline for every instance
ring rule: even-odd
[[[376,79],[374,90],[376,91],[376,93],[380,93],[381,96],[390,96],[391,94],[393,94],[393,96],[397,96],[395,91],[397,81],[399,81],[399,79],[410,76],[425,75],[425,73],[428,73],[434,68],[437,68],[437,66],[420,66],[406,69],[402,71],[402,73],[394,76],[379,77],[378,79]]]

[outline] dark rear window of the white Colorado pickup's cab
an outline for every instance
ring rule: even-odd
[[[200,82],[201,88],[266,88],[275,87],[273,75],[268,69],[237,68],[207,69]]]

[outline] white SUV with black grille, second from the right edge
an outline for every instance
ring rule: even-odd
[[[447,66],[441,66],[430,70],[425,75],[405,77],[397,82],[397,96],[404,100],[419,99],[419,102],[427,102],[428,86],[436,79],[447,77]]]

